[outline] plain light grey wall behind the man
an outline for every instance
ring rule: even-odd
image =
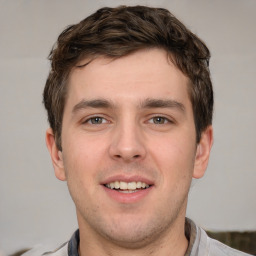
[[[103,6],[171,10],[211,49],[215,143],[188,216],[214,230],[256,229],[256,1],[0,1],[0,250],[62,243],[77,227],[45,147],[41,104],[57,35]],[[1,253],[0,253],[1,254]]]

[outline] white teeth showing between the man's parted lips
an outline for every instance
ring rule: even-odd
[[[142,181],[113,181],[110,183],[104,184],[106,188],[115,190],[120,193],[136,193],[142,190],[146,190],[151,187],[150,184],[147,184]]]

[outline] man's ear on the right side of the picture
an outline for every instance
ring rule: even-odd
[[[213,129],[208,126],[201,134],[200,142],[197,144],[193,178],[200,179],[206,171],[210,151],[213,144]]]

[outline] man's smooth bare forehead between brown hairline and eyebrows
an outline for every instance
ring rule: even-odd
[[[161,49],[140,50],[117,59],[84,59],[78,66],[69,76],[68,101],[188,97],[189,79]]]

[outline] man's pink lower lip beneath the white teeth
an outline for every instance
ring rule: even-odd
[[[149,194],[149,192],[152,190],[152,187],[153,186],[150,186],[147,189],[137,190],[136,192],[133,192],[133,193],[122,193],[122,192],[119,192],[118,190],[110,189],[103,185],[105,192],[110,198],[114,199],[119,203],[126,203],[126,204],[136,203],[142,200]]]

